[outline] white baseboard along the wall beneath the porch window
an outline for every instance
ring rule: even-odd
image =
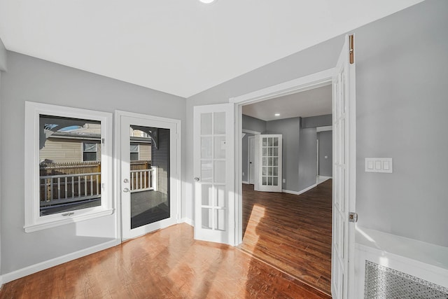
[[[51,260],[45,260],[44,262],[37,263],[35,265],[31,265],[31,266],[24,267],[19,270],[15,270],[13,272],[3,274],[1,276],[1,282],[3,284],[6,284],[9,281],[13,281],[15,279],[25,277],[29,274],[33,274],[33,273],[48,269],[50,267],[54,267],[56,265],[60,265],[60,264],[69,262],[70,260],[76,260],[76,258],[82,258],[83,256],[88,256],[89,254],[92,254],[92,253],[95,253],[98,251],[102,251],[104,249],[111,248],[120,243],[121,243],[120,239],[113,239],[112,241],[109,241],[109,242],[105,242],[105,243],[102,243],[102,244],[99,244],[96,246],[82,249],[80,251],[66,254],[65,256],[59,256],[57,258],[52,258]]]

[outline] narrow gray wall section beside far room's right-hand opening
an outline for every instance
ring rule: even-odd
[[[304,190],[316,183],[317,134],[315,127],[300,129],[298,188]]]

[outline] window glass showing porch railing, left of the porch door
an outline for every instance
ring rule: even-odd
[[[40,215],[101,205],[101,122],[40,115]]]

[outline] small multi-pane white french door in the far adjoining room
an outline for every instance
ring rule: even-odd
[[[258,191],[281,192],[281,134],[261,134],[258,137]]]

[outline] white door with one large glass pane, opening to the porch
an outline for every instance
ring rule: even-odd
[[[123,239],[177,223],[179,204],[179,120],[127,114],[117,118]]]

